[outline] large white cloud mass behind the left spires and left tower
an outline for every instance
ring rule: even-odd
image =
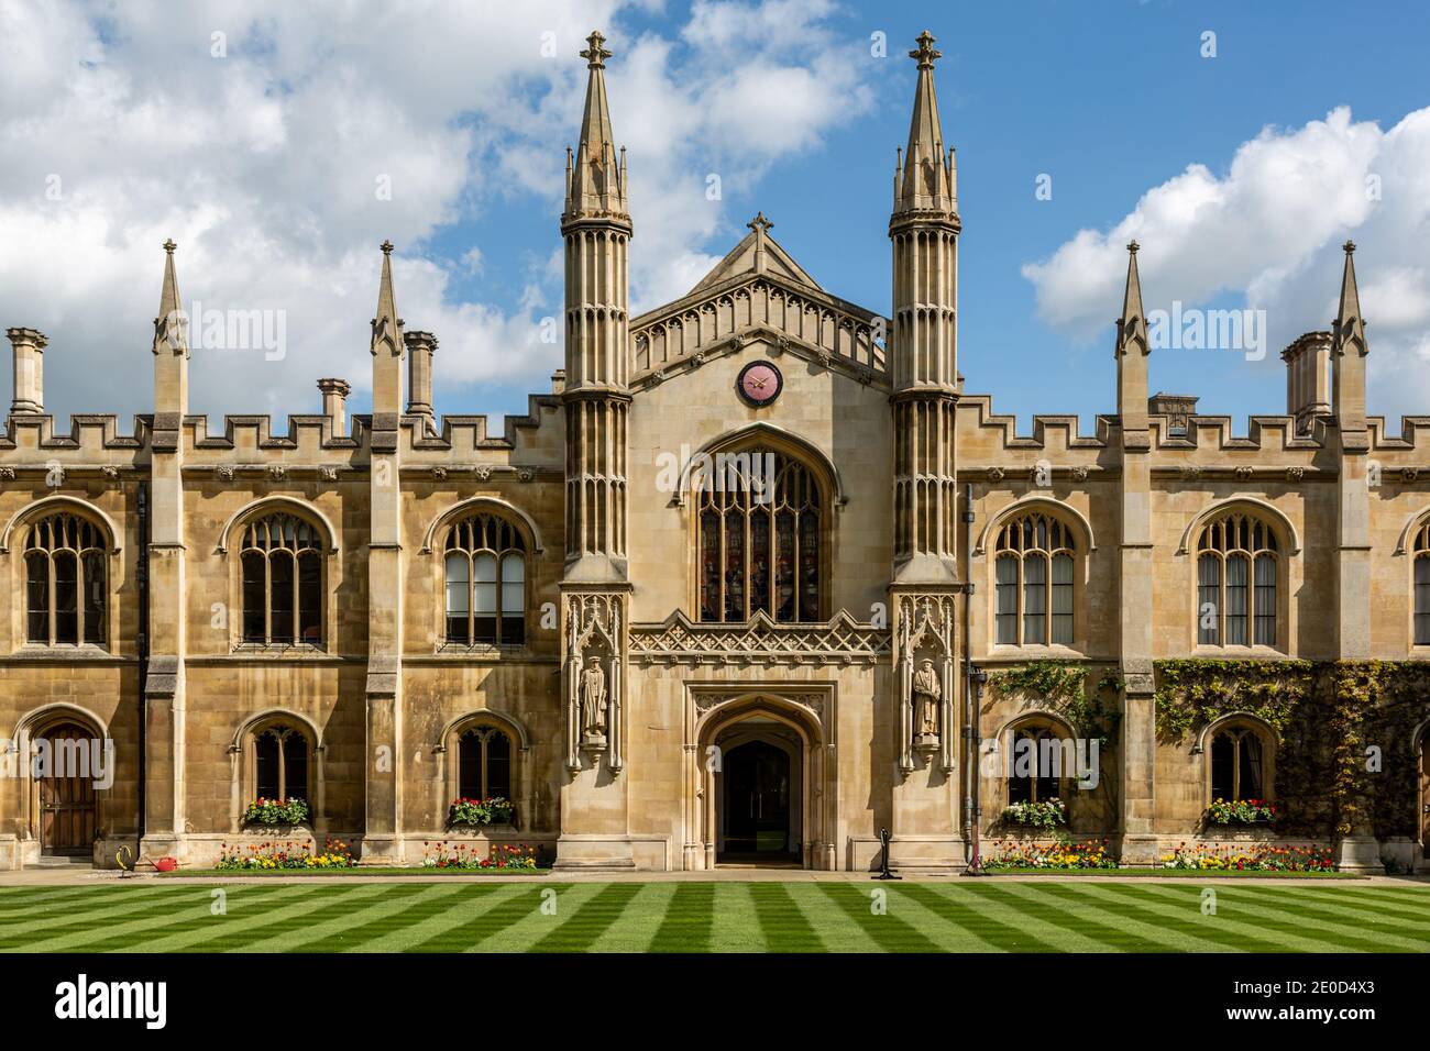
[[[439,408],[490,409],[473,399],[498,380],[545,389],[561,346],[541,342],[541,322],[561,309],[561,183],[592,26],[616,51],[636,309],[682,295],[715,262],[706,242],[744,232],[732,196],[868,104],[824,0],[696,3],[684,31],[622,36],[626,11],[651,6],[0,0],[0,322],[50,336],[49,408],[150,408],[169,236],[186,303],[283,310],[287,326],[282,360],[196,352],[196,412],[313,412],[317,376],[365,390],[383,237],[403,317],[440,340]],[[226,57],[210,54],[219,31]],[[712,172],[724,200],[706,200]],[[551,250],[460,243],[505,209],[549,216]]]

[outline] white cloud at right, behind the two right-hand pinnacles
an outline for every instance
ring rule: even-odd
[[[1038,315],[1077,339],[1107,335],[1121,305],[1124,245],[1143,245],[1148,310],[1240,296],[1264,309],[1273,349],[1328,327],[1340,290],[1340,245],[1356,240],[1361,309],[1370,320],[1371,412],[1430,405],[1430,107],[1389,132],[1346,107],[1298,129],[1264,129],[1217,176],[1191,164],[1143,194],[1113,229],[1080,230],[1024,276]]]

